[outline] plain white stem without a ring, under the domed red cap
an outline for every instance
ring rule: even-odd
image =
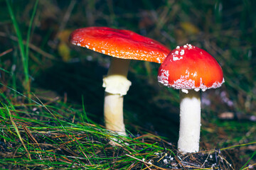
[[[200,92],[180,91],[180,131],[178,149],[183,154],[198,152],[201,128]]]

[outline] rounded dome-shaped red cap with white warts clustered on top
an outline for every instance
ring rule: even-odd
[[[193,45],[176,47],[159,67],[158,81],[174,89],[218,88],[223,84],[223,71],[205,50]]]

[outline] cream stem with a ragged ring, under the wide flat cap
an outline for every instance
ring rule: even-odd
[[[113,57],[107,76],[103,79],[105,87],[104,118],[108,130],[126,135],[124,128],[123,101],[131,81],[127,79],[130,60]]]

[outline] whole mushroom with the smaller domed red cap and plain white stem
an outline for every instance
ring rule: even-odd
[[[187,44],[176,47],[159,67],[158,81],[180,89],[180,131],[178,149],[198,152],[201,127],[200,92],[224,82],[223,71],[208,52]]]

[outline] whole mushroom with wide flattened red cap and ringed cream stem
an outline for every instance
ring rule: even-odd
[[[161,43],[130,30],[107,27],[89,27],[70,34],[73,45],[112,56],[110,69],[103,78],[105,87],[104,116],[108,130],[126,135],[123,120],[123,96],[131,82],[127,79],[130,60],[164,61],[171,50]]]

